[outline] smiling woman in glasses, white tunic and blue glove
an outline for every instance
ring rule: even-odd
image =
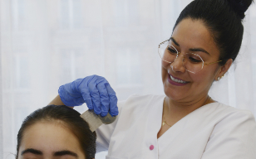
[[[180,13],[170,40],[160,43],[165,95],[133,95],[119,102],[116,122],[96,130],[97,151],[118,158],[254,159],[252,113],[208,95],[241,46],[251,0],[194,0]],[[117,115],[108,82],[92,75],[64,84],[52,104],[80,105]]]

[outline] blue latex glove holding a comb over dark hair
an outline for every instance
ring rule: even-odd
[[[66,106],[87,104],[96,114],[105,117],[108,112],[118,115],[116,92],[108,81],[101,76],[91,75],[62,85],[58,93]]]

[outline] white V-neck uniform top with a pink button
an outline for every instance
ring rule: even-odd
[[[132,95],[118,103],[115,123],[96,130],[106,159],[256,159],[252,113],[212,103],[188,114],[157,138],[165,95]]]

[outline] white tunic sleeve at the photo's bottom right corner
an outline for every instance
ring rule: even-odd
[[[249,111],[230,114],[215,125],[202,159],[255,159],[256,124]]]

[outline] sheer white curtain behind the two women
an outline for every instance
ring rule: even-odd
[[[0,158],[14,158],[17,131],[60,85],[87,75],[119,100],[164,94],[158,44],[191,0],[0,0]],[[236,63],[209,94],[256,115],[256,4],[244,20]],[[76,108],[86,110],[86,105]],[[97,156],[102,158],[104,156]],[[104,157],[103,157],[104,158]]]

